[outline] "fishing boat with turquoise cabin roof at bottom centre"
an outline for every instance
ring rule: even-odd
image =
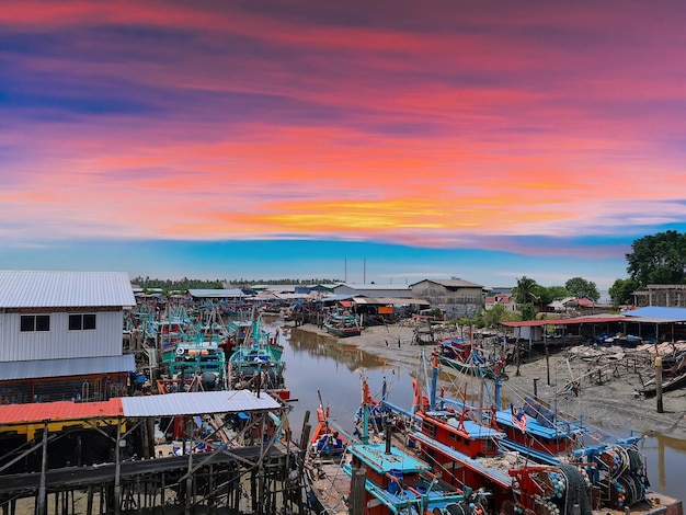
[[[363,407],[369,403],[363,377]],[[365,431],[361,443],[347,447],[342,470],[347,481],[333,468],[324,477],[311,478],[317,513],[348,513],[347,504],[371,515],[484,513],[488,492],[448,484],[432,472],[428,464],[393,445],[390,435],[385,442],[370,443]]]

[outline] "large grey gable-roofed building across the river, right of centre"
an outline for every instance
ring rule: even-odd
[[[410,285],[412,298],[427,300],[447,319],[476,317],[483,307],[483,286],[462,279],[424,279]]]

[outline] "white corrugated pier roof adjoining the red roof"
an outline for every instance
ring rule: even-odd
[[[171,416],[199,413],[275,410],[281,404],[267,393],[249,390],[199,391],[122,398],[125,416]]]

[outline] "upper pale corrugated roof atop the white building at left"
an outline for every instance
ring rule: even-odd
[[[0,308],[136,306],[125,272],[0,271]]]

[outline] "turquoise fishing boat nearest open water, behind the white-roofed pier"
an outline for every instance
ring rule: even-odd
[[[228,360],[230,389],[248,388],[265,391],[282,400],[290,398],[284,379],[286,364],[282,359],[282,336],[279,330],[271,334],[262,317],[253,310],[251,328]]]

